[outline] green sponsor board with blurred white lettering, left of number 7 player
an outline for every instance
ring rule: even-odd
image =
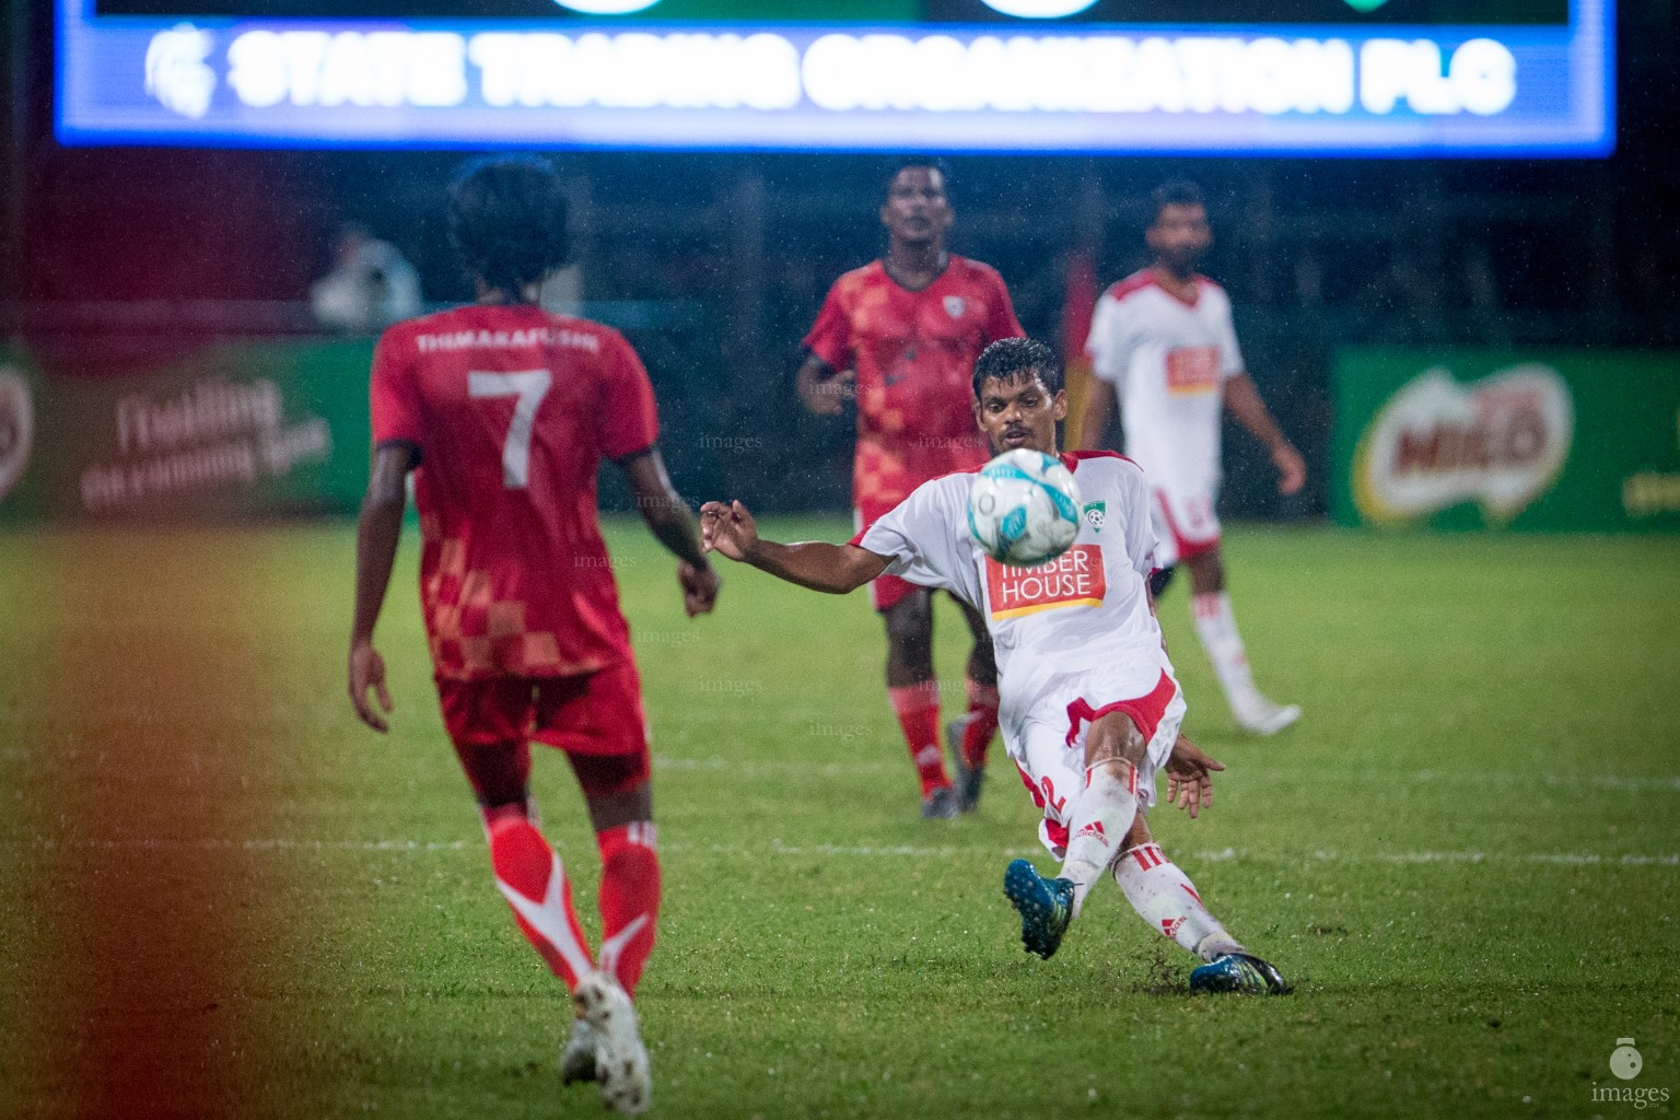
[[[0,361],[0,521],[348,512],[371,358],[371,341],[230,343],[121,378]]]

